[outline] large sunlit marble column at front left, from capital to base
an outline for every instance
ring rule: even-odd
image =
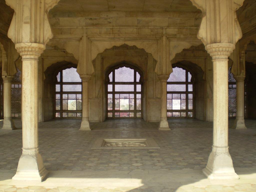
[[[38,57],[43,44],[17,43],[22,56],[22,155],[13,180],[42,181],[48,171],[38,150]]]

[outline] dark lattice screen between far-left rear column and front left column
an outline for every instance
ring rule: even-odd
[[[17,68],[17,73],[12,82],[12,117],[21,118],[21,71]]]

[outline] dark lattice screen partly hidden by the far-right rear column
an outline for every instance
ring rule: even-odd
[[[247,115],[247,86],[244,83],[244,116]],[[237,116],[237,84],[236,79],[231,73],[231,67],[228,69],[228,116]]]

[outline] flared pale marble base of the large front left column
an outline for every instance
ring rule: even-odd
[[[23,149],[13,180],[41,182],[48,174],[38,149]]]

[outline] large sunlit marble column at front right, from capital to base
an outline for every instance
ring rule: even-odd
[[[213,62],[213,145],[203,173],[209,179],[238,179],[228,151],[228,56],[234,49],[231,43],[214,43],[205,49]]]

